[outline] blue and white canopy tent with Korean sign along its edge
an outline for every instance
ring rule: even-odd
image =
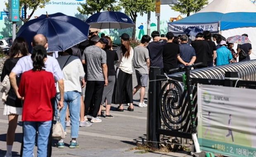
[[[226,38],[246,33],[253,48],[251,58],[256,59],[256,5],[251,0],[213,0],[199,12],[168,23],[168,31],[183,34],[190,26],[219,32]]]

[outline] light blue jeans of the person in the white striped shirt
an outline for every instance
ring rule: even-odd
[[[65,125],[65,117],[66,117],[66,106],[69,105],[69,114],[71,120],[71,138],[78,138],[78,131],[79,131],[79,118],[80,118],[80,92],[78,91],[69,91],[64,92],[64,106],[59,111],[60,113],[60,123],[64,131],[66,131]],[[59,93],[56,94],[56,101],[55,101],[55,118],[57,119],[57,102],[60,98]]]

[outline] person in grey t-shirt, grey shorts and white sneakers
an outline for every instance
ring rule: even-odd
[[[133,67],[137,78],[137,85],[133,88],[133,95],[140,89],[139,107],[147,107],[147,104],[144,102],[144,97],[145,88],[147,87],[150,60],[149,51],[145,46],[147,46],[149,41],[150,37],[148,35],[143,35],[140,44],[133,49]]]

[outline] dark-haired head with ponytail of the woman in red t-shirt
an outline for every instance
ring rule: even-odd
[[[44,58],[47,57],[46,49],[37,45],[33,48],[31,59],[33,60],[33,71],[42,70],[45,67],[45,63],[43,61]]]

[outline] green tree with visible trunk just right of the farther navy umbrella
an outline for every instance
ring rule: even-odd
[[[130,16],[135,24],[138,14],[143,16],[143,14],[155,10],[154,0],[119,0],[119,4],[125,9],[125,14]],[[133,39],[135,39],[135,28],[133,28]]]

